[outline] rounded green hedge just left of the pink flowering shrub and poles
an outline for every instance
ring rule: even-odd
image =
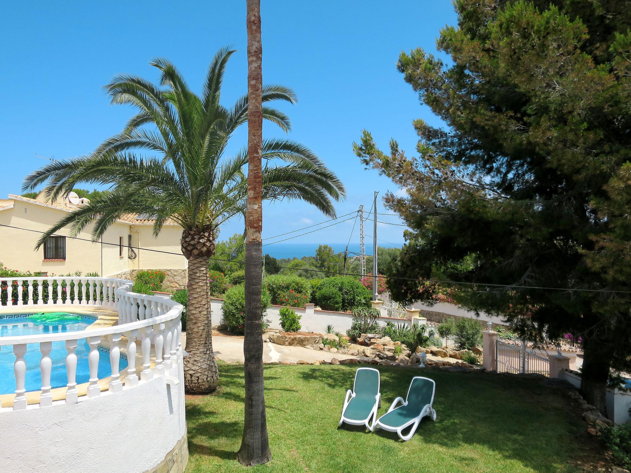
[[[350,276],[327,277],[315,293],[315,301],[323,310],[346,311],[369,307],[371,298],[369,289]]]

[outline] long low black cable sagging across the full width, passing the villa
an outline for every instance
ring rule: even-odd
[[[350,219],[349,219],[350,220]],[[341,222],[338,222],[341,223]],[[333,224],[336,225],[336,224]],[[15,228],[16,230],[25,230],[25,231],[32,231],[34,233],[45,233],[44,231],[41,230],[32,230],[30,228],[22,228],[20,226],[13,226],[13,225],[4,225],[3,223],[0,223],[0,226],[5,226],[8,228]],[[316,231],[316,230],[314,230]],[[310,233],[310,232],[309,232]],[[51,237],[66,237],[66,235],[50,235]],[[369,236],[369,235],[367,235]],[[141,248],[141,247],[130,247],[129,245],[119,245],[119,243],[108,243],[108,242],[95,242],[94,240],[90,240],[88,238],[80,238],[80,237],[66,237],[66,238],[71,238],[73,240],[81,240],[83,242],[90,242],[90,243],[102,243],[103,245],[111,245],[111,246],[115,246],[115,247],[123,247],[123,248],[136,248],[138,250],[144,250],[144,251],[150,251],[150,252],[155,252],[155,253],[164,253],[164,254],[168,254],[168,255],[177,255],[177,256],[183,256],[182,253],[175,253],[172,251],[164,251],[164,250],[152,250],[151,248]],[[278,243],[278,242],[276,242]],[[388,242],[386,242],[388,243]],[[273,243],[270,243],[273,244]],[[395,243],[391,243],[392,245],[394,245]],[[211,261],[223,261],[223,262],[227,262],[227,263],[237,263],[237,264],[245,264],[245,261],[236,261],[236,260],[227,260],[227,259],[221,259],[221,258],[209,258],[209,260]],[[280,267],[281,269],[290,269],[292,271],[309,271],[309,272],[322,272],[320,269],[307,269],[307,268],[294,268],[294,267],[289,267],[289,266],[271,266],[271,267]],[[343,272],[336,272],[336,271],[326,271],[329,274],[340,274],[341,276],[344,276],[345,274]],[[346,274],[346,276],[358,276],[361,277],[361,274]],[[11,276],[11,277],[3,277],[1,279],[3,280],[8,280],[8,279],[20,279],[20,277],[26,277],[26,276]],[[454,286],[487,286],[487,287],[492,287],[492,288],[510,288],[510,289],[545,289],[547,291],[569,291],[569,292],[591,292],[591,293],[620,293],[620,294],[631,294],[631,291],[615,291],[613,289],[580,289],[580,288],[548,288],[546,286],[515,286],[514,284],[493,284],[493,283],[468,283],[465,281],[443,281],[441,279],[418,279],[415,277],[401,277],[401,276],[377,276],[380,279],[398,279],[399,281],[423,281],[423,282],[427,282],[427,283],[441,283],[441,284],[451,284]],[[474,291],[478,291],[477,289],[473,289]],[[483,292],[483,291],[478,291],[478,292]],[[484,291],[486,292],[486,291]]]

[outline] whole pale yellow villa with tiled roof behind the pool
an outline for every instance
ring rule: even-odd
[[[154,220],[143,214],[126,214],[107,229],[98,242],[91,241],[91,226],[77,238],[68,228],[50,237],[35,250],[42,231],[65,213],[90,202],[71,192],[55,202],[45,202],[9,194],[0,199],[0,262],[20,271],[41,276],[98,272],[102,277],[132,278],[141,269],[167,272],[172,288],[186,284],[186,258],[180,250],[182,228],[167,222],[158,237],[153,236]]]

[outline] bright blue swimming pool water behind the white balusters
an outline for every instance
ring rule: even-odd
[[[15,337],[22,335],[54,334],[58,332],[78,332],[94,322],[96,317],[81,315],[81,321],[59,322],[58,325],[49,326],[33,323],[27,318],[27,314],[20,315],[0,315],[0,337]],[[90,368],[88,366],[88,353],[90,346],[86,339],[79,339],[77,349],[74,353],[77,356],[77,384],[86,383],[90,380]],[[112,374],[110,366],[110,355],[104,349],[99,349],[98,377],[107,378]],[[50,386],[61,388],[68,383],[66,374],[66,342],[52,342],[50,360],[52,361],[52,371],[50,373]],[[27,362],[27,391],[38,391],[42,387],[42,376],[40,374],[39,363],[42,353],[38,343],[29,343],[27,353],[24,357]],[[15,392],[15,377],[13,375],[13,363],[15,355],[11,346],[3,346],[0,350],[0,394],[10,394]],[[127,367],[127,359],[121,356],[119,370]]]

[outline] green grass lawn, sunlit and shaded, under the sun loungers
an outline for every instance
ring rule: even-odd
[[[245,469],[235,460],[244,402],[242,365],[220,365],[215,394],[187,399],[187,473],[274,472],[574,472],[598,453],[579,411],[563,390],[538,380],[486,373],[391,368],[381,371],[384,414],[405,396],[415,375],[436,382],[438,419],[423,419],[416,435],[338,429],[346,389],[357,365],[268,365],[265,368],[273,459]]]

